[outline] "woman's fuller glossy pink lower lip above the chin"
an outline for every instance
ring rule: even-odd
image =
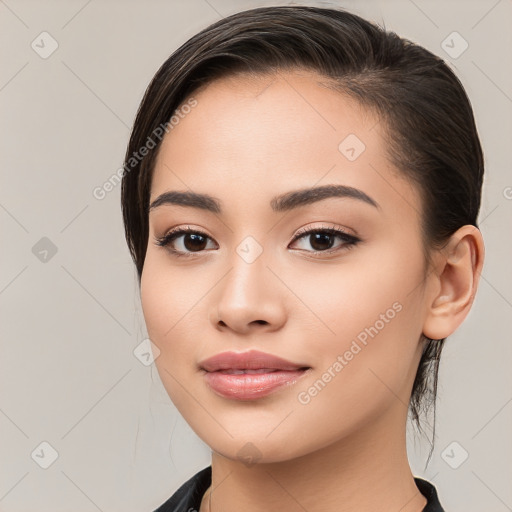
[[[278,370],[269,373],[229,374],[206,372],[208,385],[217,394],[233,400],[257,400],[282,386],[294,384],[307,370]]]

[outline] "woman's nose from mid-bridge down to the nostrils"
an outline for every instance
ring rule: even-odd
[[[216,287],[210,313],[216,329],[250,334],[275,331],[285,323],[284,287],[264,254],[249,263],[234,252],[231,269]]]

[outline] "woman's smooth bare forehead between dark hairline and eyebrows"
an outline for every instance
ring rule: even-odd
[[[362,189],[384,204],[416,194],[390,165],[377,116],[319,75],[236,75],[193,97],[197,105],[162,142],[151,201],[168,190],[193,190],[240,210],[327,183]]]

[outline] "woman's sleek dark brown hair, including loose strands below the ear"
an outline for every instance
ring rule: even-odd
[[[341,9],[276,6],[242,11],[205,28],[160,67],[140,104],[125,156],[121,206],[139,284],[148,243],[152,171],[161,138],[152,134],[201,85],[236,73],[314,71],[332,87],[377,113],[390,161],[422,198],[426,261],[458,228],[477,226],[483,155],[470,101],[442,59],[394,32]],[[153,135],[154,138],[154,135]],[[478,226],[477,226],[478,227]],[[435,402],[444,339],[428,340],[409,412]],[[432,382],[430,382],[432,380]],[[429,459],[434,448],[429,454]],[[428,464],[428,461],[427,461]]]

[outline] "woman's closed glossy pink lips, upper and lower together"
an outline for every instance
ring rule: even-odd
[[[205,359],[199,367],[212,391],[233,400],[263,398],[293,385],[311,369],[258,350],[222,352]]]

